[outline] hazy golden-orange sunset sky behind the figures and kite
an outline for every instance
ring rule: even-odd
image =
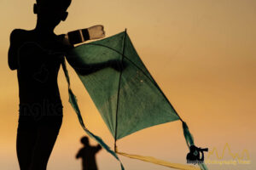
[[[18,169],[15,139],[18,121],[16,71],[7,64],[9,34],[15,28],[33,29],[34,0],[0,0],[0,168]],[[61,34],[102,24],[107,37],[127,28],[148,71],[189,125],[195,144],[217,148],[228,143],[234,153],[248,150],[251,164],[209,165],[209,169],[255,169],[256,147],[256,1],[253,0],[73,0]],[[83,84],[68,67],[74,94],[87,127],[111,147],[113,138]],[[67,102],[63,71],[59,87],[64,119],[48,170],[81,169],[74,156],[85,134]],[[96,142],[90,140],[91,144]],[[181,122],[170,122],[133,133],[118,141],[120,151],[185,163],[188,148]],[[207,154],[206,154],[207,156]],[[225,154],[225,160],[230,160]],[[120,156],[127,170],[167,170]],[[216,156],[211,157],[212,160]],[[97,155],[99,170],[118,170],[106,151]]]

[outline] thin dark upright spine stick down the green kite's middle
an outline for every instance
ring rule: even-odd
[[[114,151],[116,152],[116,140],[117,140],[117,127],[118,127],[118,112],[119,112],[119,92],[120,92],[120,84],[121,84],[121,77],[123,73],[123,60],[124,60],[124,54],[125,54],[125,37],[126,37],[126,29],[125,29],[125,35],[123,38],[123,48],[122,48],[122,59],[121,59],[121,71],[119,74],[119,88],[118,88],[118,94],[117,94],[117,105],[116,105],[116,113],[115,113],[115,132],[114,132]]]

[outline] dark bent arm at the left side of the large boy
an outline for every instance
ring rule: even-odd
[[[19,30],[15,29],[10,34],[10,46],[8,52],[8,64],[11,70],[16,70],[18,68],[18,49],[19,49]]]

